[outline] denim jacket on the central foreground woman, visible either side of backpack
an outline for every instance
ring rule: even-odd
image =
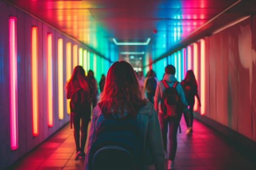
[[[104,119],[101,109],[97,105],[93,109],[93,119],[88,137],[88,149],[85,156],[84,170],[89,170],[88,157],[90,148],[96,135],[98,125]],[[136,119],[140,127],[140,134],[143,135],[144,139],[145,169],[155,164],[156,170],[164,170],[163,142],[158,116],[153,104],[148,102],[147,105],[141,107]]]

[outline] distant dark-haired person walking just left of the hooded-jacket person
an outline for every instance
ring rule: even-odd
[[[154,95],[157,88],[157,81],[155,79],[155,72],[151,69],[148,71],[147,76],[144,80],[144,91],[147,92],[147,99],[149,102],[154,103]]]

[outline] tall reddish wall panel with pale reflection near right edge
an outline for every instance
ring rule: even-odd
[[[238,24],[238,132],[252,137],[252,30],[251,19]],[[246,89],[246,90],[244,90]],[[246,125],[246,126],[245,126]]]

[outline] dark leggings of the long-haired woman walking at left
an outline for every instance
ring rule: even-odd
[[[81,120],[81,147],[80,147],[80,120]],[[87,138],[87,128],[90,119],[86,116],[72,115],[74,125],[74,137],[76,142],[77,152],[84,152],[85,142]]]

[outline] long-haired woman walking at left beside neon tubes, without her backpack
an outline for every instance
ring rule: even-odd
[[[70,78],[70,80],[66,83],[66,92],[67,92],[67,99],[71,99],[70,102],[72,101],[72,96],[79,90],[83,91],[85,95],[87,96],[87,100],[85,101],[84,107],[82,110],[75,112],[72,112],[71,108],[71,128],[72,128],[72,123],[74,125],[74,137],[75,137],[75,142],[76,142],[76,149],[77,149],[77,154],[75,157],[75,160],[78,160],[79,158],[82,159],[85,157],[84,153],[84,147],[85,147],[85,142],[87,138],[87,128],[88,128],[88,123],[91,120],[91,107],[90,107],[90,90],[89,90],[89,85],[87,78],[85,76],[85,71],[81,66],[76,66],[73,70],[73,74]],[[80,124],[81,121],[81,124]],[[80,129],[81,129],[81,138],[80,138]],[[80,141],[81,140],[81,141]],[[80,143],[81,142],[81,143]],[[81,145],[80,145],[81,144]]]

